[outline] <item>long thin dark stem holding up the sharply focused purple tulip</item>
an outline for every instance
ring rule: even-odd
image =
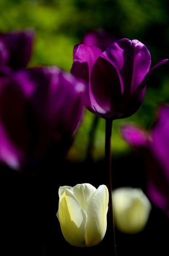
[[[111,154],[111,136],[112,136],[112,119],[106,119],[106,138],[105,138],[105,162],[106,172],[108,172],[108,190],[109,190],[109,219],[110,219],[110,236],[113,243],[113,250],[116,254],[116,243],[115,243],[115,221],[112,201],[112,154]]]

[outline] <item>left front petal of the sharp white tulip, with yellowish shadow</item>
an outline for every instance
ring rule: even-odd
[[[63,236],[69,244],[77,247],[86,246],[85,227],[87,214],[80,207],[69,189],[63,190],[60,195],[57,218],[59,219]]]

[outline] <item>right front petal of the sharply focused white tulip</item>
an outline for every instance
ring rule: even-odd
[[[85,232],[86,246],[92,246],[102,241],[107,228],[107,211],[109,192],[105,185],[98,187],[89,202]]]

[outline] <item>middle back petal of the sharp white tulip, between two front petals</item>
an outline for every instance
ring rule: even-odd
[[[89,201],[96,192],[96,188],[89,183],[77,184],[72,191],[80,206],[86,211]]]

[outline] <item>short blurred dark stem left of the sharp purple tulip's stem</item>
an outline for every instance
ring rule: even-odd
[[[99,117],[94,115],[92,120],[92,125],[89,131],[89,144],[87,146],[86,160],[92,160],[92,150],[95,142],[95,134],[96,134],[98,122],[99,122]]]

